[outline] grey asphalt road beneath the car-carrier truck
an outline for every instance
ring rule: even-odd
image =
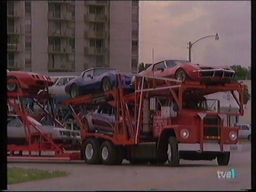
[[[251,149],[234,152],[228,166],[216,161],[181,160],[180,167],[168,165],[119,166],[86,165],[82,161],[65,163],[8,163],[12,167],[63,170],[70,175],[9,185],[9,190],[241,190],[251,189]],[[237,178],[217,178],[217,170],[236,169]]]

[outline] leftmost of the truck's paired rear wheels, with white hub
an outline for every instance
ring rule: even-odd
[[[96,165],[99,164],[100,157],[99,157],[99,150],[100,150],[100,142],[96,138],[89,138],[86,139],[84,143],[84,160],[85,163]]]

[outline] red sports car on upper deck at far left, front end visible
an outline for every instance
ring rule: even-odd
[[[7,91],[17,91],[18,85],[22,90],[38,92],[40,89],[52,86],[53,81],[48,76],[39,75],[37,73],[23,71],[7,72]]]

